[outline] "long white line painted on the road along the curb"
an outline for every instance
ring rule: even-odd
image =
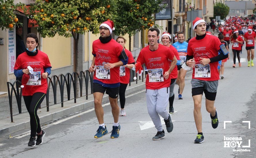
[[[144,92],[144,91],[146,91],[146,89],[141,90],[141,91],[138,91],[138,92],[133,93],[133,94],[130,94],[130,95],[128,95],[126,98],[131,97],[131,96],[136,95],[136,94],[139,94],[139,93],[142,93],[142,92]],[[118,100],[119,100],[119,99],[118,99]],[[110,103],[102,104],[102,107],[107,106],[107,105],[110,105]],[[70,120],[70,119],[72,119],[72,118],[74,118],[74,117],[77,117],[77,116],[83,115],[83,114],[85,114],[85,113],[91,112],[91,111],[94,111],[94,108],[89,109],[89,110],[86,110],[86,111],[81,112],[81,113],[78,113],[78,114],[76,114],[76,115],[72,115],[72,116],[70,116],[70,117],[66,117],[66,118],[64,118],[64,119],[62,119],[62,120],[58,120],[58,121],[53,122],[53,123],[51,123],[51,124],[48,124],[48,125],[46,125],[46,126],[43,126],[42,130],[45,129],[45,128],[51,127],[51,126],[53,126],[53,125],[60,124],[60,123],[62,123],[62,122],[64,122],[64,121]],[[19,134],[19,135],[16,135],[16,136],[13,136],[13,138],[22,138],[22,137],[24,137],[24,136],[28,136],[29,134],[30,134],[30,131],[24,132],[24,133]]]

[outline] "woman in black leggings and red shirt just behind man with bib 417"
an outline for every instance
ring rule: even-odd
[[[116,42],[121,44],[122,47],[125,49],[126,39],[124,37],[118,36],[116,39]],[[124,110],[125,90],[127,88],[127,85],[130,83],[130,69],[132,69],[135,64],[132,53],[127,49],[125,49],[125,53],[128,57],[128,64],[120,66],[120,69],[119,69],[119,72],[120,72],[119,98],[120,98],[120,105],[121,105],[120,116],[126,116],[126,113]]]

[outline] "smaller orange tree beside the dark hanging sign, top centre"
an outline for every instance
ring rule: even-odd
[[[154,13],[158,13],[163,6],[162,0],[118,0],[118,16],[115,21],[115,34],[129,34],[129,51],[131,51],[131,36],[136,32],[158,27],[154,24]]]

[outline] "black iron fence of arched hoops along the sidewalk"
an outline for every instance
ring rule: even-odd
[[[142,72],[142,76],[139,76],[139,77],[137,77],[137,74],[134,71],[130,70],[130,72],[131,73],[130,73],[129,86],[131,86],[131,82],[136,82],[136,84],[138,83],[139,80],[144,82],[144,78],[146,77],[146,74],[144,72]],[[133,80],[134,76],[137,77],[135,81]],[[74,99],[74,103],[77,102],[77,98],[79,97],[85,96],[86,100],[88,100],[88,96],[93,94],[93,88],[92,88],[93,73],[90,73],[89,70],[81,71],[80,74],[77,72],[73,72],[72,74],[67,73],[66,75],[60,74],[59,76],[57,75],[53,75],[51,77],[48,76],[47,83],[48,83],[48,89],[46,93],[47,112],[50,110],[49,107],[51,105],[56,105],[58,103],[61,103],[61,107],[64,106],[65,87],[66,87],[67,101]],[[19,87],[20,85],[21,85],[21,82],[18,80],[14,81],[13,83],[7,82],[11,122],[13,122],[13,116],[14,116],[13,115],[13,93],[15,95],[15,99],[18,106],[18,114],[22,113],[22,88]],[[77,86],[79,87],[77,88]],[[83,95],[84,88],[85,88],[85,95]],[[51,105],[49,102],[50,93],[53,93],[53,104]],[[57,94],[60,95],[60,102],[58,103],[57,103]],[[74,98],[70,97],[71,94],[74,95]],[[39,109],[41,109],[41,105],[39,106]]]

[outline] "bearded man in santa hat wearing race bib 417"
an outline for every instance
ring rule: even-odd
[[[93,97],[95,113],[100,124],[94,138],[102,138],[108,133],[104,124],[104,110],[102,108],[102,98],[105,91],[108,94],[114,117],[110,138],[119,137],[119,106],[117,104],[120,86],[119,66],[126,65],[128,57],[123,47],[112,39],[112,30],[114,30],[112,21],[109,20],[100,24],[100,38],[93,41],[92,44],[93,60],[89,72],[95,71],[93,75]]]

